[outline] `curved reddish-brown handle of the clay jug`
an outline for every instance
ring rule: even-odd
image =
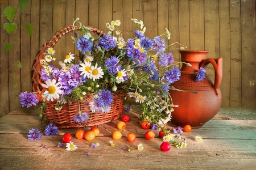
[[[209,63],[213,65],[214,74],[215,74],[213,88],[216,95],[218,95],[218,91],[220,90],[220,84],[222,79],[222,62],[223,62],[223,59],[221,57],[218,57],[217,59],[207,58],[207,59],[204,59],[199,65],[199,67],[204,67],[204,69],[205,67],[207,67]]]

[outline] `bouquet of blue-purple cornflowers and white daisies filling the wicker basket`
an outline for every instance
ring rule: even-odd
[[[73,25],[77,22],[76,19]],[[92,97],[90,106],[93,112],[111,111],[113,94],[122,92],[123,100],[129,111],[131,104],[141,109],[140,121],[147,120],[155,129],[171,120],[174,107],[169,94],[170,85],[179,80],[181,71],[174,63],[170,46],[164,37],[170,39],[170,32],[155,36],[152,40],[144,35],[146,27],[143,22],[131,19],[135,23],[134,38],[124,40],[118,26],[119,20],[107,23],[108,33],[94,37],[90,28],[79,23],[80,29],[72,36],[79,54],[69,53],[59,67],[49,65],[55,61],[55,49],[48,48],[42,59],[42,84],[47,90],[43,92],[43,105],[57,100],[56,110],[73,100],[84,100],[85,95]],[[187,48],[181,44],[179,49]],[[187,63],[189,65],[189,63]],[[157,65],[162,66],[159,69]],[[204,78],[205,70],[200,69],[197,80]],[[174,87],[172,87],[174,88]],[[35,94],[22,92],[22,107],[37,105]],[[73,117],[76,122],[86,122],[88,114],[79,112]]]

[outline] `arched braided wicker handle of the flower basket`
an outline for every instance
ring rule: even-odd
[[[91,27],[91,26],[87,26],[85,28],[88,28],[89,31],[96,33],[97,35],[101,35],[104,36],[105,33],[100,31],[100,29],[95,28],[95,27]],[[73,27],[73,25],[66,27],[64,29],[61,29],[60,31],[58,31],[57,33],[55,33],[55,35],[53,37],[51,37],[49,40],[47,40],[46,42],[44,42],[44,45],[38,50],[38,52],[36,53],[36,57],[34,58],[33,64],[32,64],[32,68],[30,71],[30,75],[31,75],[31,83],[32,83],[32,92],[39,92],[42,91],[42,86],[39,86],[39,84],[42,84],[42,79],[40,78],[41,75],[41,64],[40,61],[41,59],[44,58],[44,56],[46,55],[46,49],[50,48],[50,47],[54,47],[55,44],[57,43],[57,41],[59,41],[59,39],[61,39],[62,36],[64,36],[65,34],[69,33],[69,32],[73,32],[75,30],[80,30],[80,27]],[[39,100],[42,99],[40,93],[38,94]]]

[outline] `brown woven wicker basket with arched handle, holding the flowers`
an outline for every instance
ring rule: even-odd
[[[101,32],[99,29],[94,27],[87,27],[90,31],[96,33],[97,35],[104,35],[103,32]],[[31,69],[31,82],[32,82],[32,91],[38,92],[38,91],[45,91],[46,88],[42,87],[41,84],[42,79],[40,78],[41,75],[41,68],[42,65],[40,64],[40,60],[43,59],[46,55],[46,50],[50,47],[54,47],[57,41],[64,36],[65,34],[79,30],[79,27],[75,28],[73,26],[66,27],[64,29],[61,29],[59,32],[57,32],[51,39],[46,41],[42,48],[38,51],[36,54],[36,57],[34,58],[34,62]],[[42,92],[37,93],[39,100],[42,100]],[[90,96],[87,96],[85,98],[85,103],[80,103],[80,111],[88,113],[89,119],[84,122],[84,125],[86,126],[94,126],[99,124],[104,124],[106,122],[110,122],[113,120],[117,120],[117,118],[120,117],[122,111],[123,111],[123,100],[122,100],[122,94],[113,94],[113,102],[110,105],[111,111],[108,113],[97,113],[92,112],[90,110],[90,107],[88,103],[92,101],[92,98]],[[79,104],[78,101],[72,101],[71,104],[64,104],[63,108],[60,111],[55,110],[56,101],[50,101],[46,104],[46,107],[43,109],[44,117],[46,117],[49,122],[55,124],[59,128],[79,128],[84,125],[77,123],[73,120],[73,116],[79,112]]]

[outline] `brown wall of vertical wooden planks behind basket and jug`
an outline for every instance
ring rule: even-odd
[[[18,6],[18,0],[0,1],[1,15],[6,6]],[[43,0],[30,1],[22,14],[21,27],[31,22],[32,37],[26,30],[18,32],[14,49],[5,52],[7,41],[1,41],[0,59],[0,117],[20,107],[19,94],[30,91],[30,68],[40,46],[54,33],[80,18],[84,25],[108,31],[105,24],[121,20],[123,37],[127,40],[133,28],[131,18],[143,20],[146,35],[151,39],[168,28],[172,42],[179,41],[190,50],[209,50],[207,57],[222,57],[222,107],[256,108],[256,28],[255,0]],[[6,36],[1,17],[1,40]],[[15,22],[18,22],[15,19]],[[70,35],[71,36],[71,35]],[[74,52],[70,36],[57,42],[59,58]],[[177,47],[174,46],[175,48]],[[179,61],[179,52],[173,52]],[[22,62],[18,69],[17,61]],[[212,65],[208,75],[214,78]]]

